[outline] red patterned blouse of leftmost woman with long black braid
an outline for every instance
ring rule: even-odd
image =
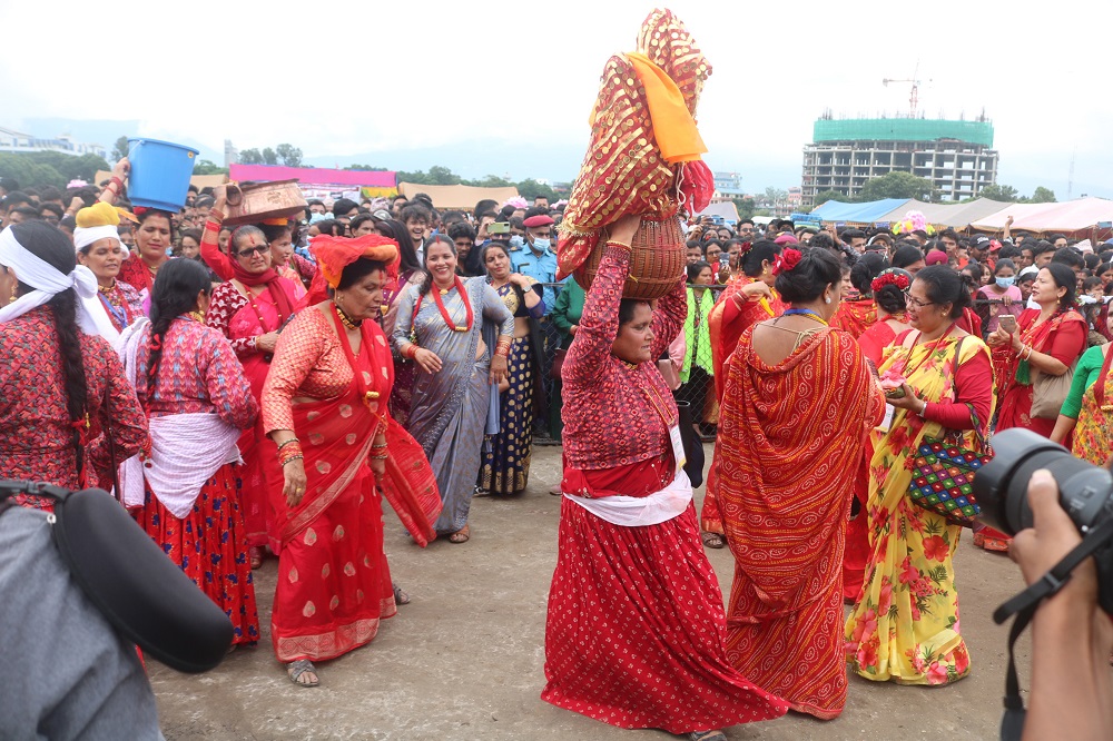
[[[111,424],[116,460],[122,462],[147,442],[147,421],[124,377],[119,356],[102,337],[80,334],[88,388],[86,464],[107,481]],[[77,458],[62,375],[58,334],[50,308],[42,306],[0,324],[0,478],[45,481],[78,487]],[[90,471],[90,474],[92,472]],[[96,478],[93,478],[96,483]]]

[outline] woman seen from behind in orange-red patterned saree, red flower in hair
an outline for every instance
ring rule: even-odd
[[[858,344],[828,328],[841,273],[828,251],[787,248],[791,308],[742,334],[727,366],[719,503],[735,583],[727,656],[792,710],[846,704],[843,539],[867,429],[885,408]]]

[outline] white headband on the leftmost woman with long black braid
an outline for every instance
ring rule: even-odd
[[[11,322],[72,288],[78,296],[77,323],[81,332],[100,335],[109,343],[115,343],[119,337],[120,333],[112,326],[108,312],[100,305],[97,276],[89,268],[78,265],[69,275],[59,273],[58,268],[20,245],[11,227],[0,231],[0,265],[14,270],[20,283],[35,288],[0,308],[0,324]]]

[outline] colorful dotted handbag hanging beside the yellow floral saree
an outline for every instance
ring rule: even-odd
[[[982,436],[982,425],[972,404],[967,404],[974,431],[985,453],[959,444],[925,437],[912,458],[908,498],[913,504],[945,517],[952,525],[973,527],[982,507],[974,498],[974,475],[993,460],[993,451]]]

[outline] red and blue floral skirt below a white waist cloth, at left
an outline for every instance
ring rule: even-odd
[[[235,629],[233,643],[254,644],[259,640],[259,615],[236,482],[234,466],[220,466],[201,486],[193,511],[183,520],[170,514],[145,485],[144,506],[131,515],[228,615]]]

